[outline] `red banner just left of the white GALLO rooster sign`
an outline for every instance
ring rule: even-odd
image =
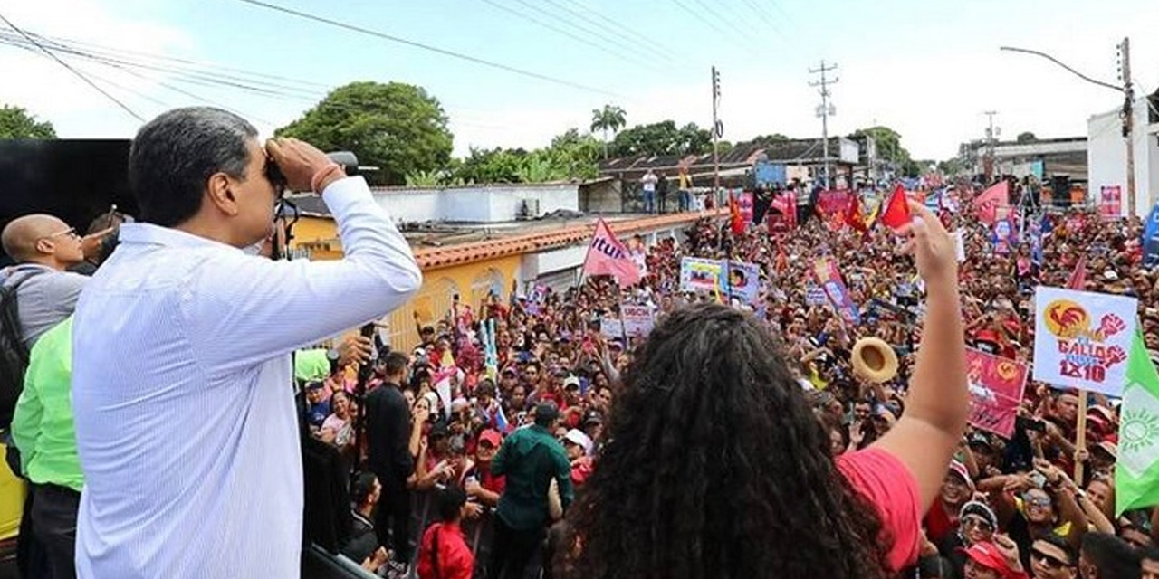
[[[970,424],[999,437],[1011,438],[1027,374],[1025,364],[967,349]]]

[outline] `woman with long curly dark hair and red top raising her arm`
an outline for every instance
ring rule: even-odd
[[[755,317],[671,314],[625,375],[557,565],[585,579],[884,578],[918,555],[920,516],[965,428],[954,241],[923,205],[903,252],[927,285],[905,412],[832,457],[790,361]]]

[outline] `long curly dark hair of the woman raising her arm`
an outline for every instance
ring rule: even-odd
[[[836,469],[774,338],[717,305],[657,325],[568,514],[566,577],[884,578],[892,543]]]

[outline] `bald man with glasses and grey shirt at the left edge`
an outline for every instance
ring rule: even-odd
[[[42,334],[72,315],[88,283],[87,277],[66,271],[85,261],[81,237],[60,219],[37,213],[12,220],[0,233],[0,243],[16,261],[0,271],[0,285],[20,284],[20,336],[31,350]]]

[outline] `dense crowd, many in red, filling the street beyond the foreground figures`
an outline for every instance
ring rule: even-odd
[[[968,208],[974,191],[961,185],[946,193],[954,196],[954,211],[949,204],[939,211],[948,229],[964,232],[960,286],[972,347],[1030,364],[1034,287],[1065,286],[1083,267],[1088,272],[1087,291],[1138,298],[1146,345],[1153,357],[1159,352],[1159,272],[1142,266],[1137,219],[1107,220],[1081,208],[1036,212],[1022,220],[1037,221],[1045,232],[1041,242],[1020,235],[1000,252],[991,229]],[[832,454],[867,447],[905,409],[905,384],[920,337],[923,287],[912,263],[897,258],[897,242],[888,228],[859,232],[834,228],[810,214],[801,217],[799,227],[772,235],[758,214],[743,233],[705,219],[683,240],[663,239],[651,245],[641,237],[627,240],[646,272],[636,286],[620,287],[610,278],[586,279],[564,292],[531,286],[504,298],[493,294],[474,307],[455,302],[438,320],[416,317],[421,345],[407,356],[380,358],[367,384],[370,390],[384,382],[401,386],[413,417],[409,489],[461,488],[461,514],[467,520],[494,518],[504,492],[504,477],[491,468],[497,449],[505,437],[535,422],[537,409],[554,408],[557,419],[544,424],[551,425],[564,449],[570,481],[582,493],[598,468],[606,442],[603,425],[615,404],[620,374],[640,342],[608,334],[606,327],[602,331],[602,320],[619,318],[624,305],[648,306],[657,320],[704,301],[729,301],[752,312],[779,336],[787,359],[797,362],[796,378],[830,433]],[[681,292],[680,259],[686,256],[758,264],[759,299],[745,303],[719,293]],[[860,308],[860,323],[847,323],[831,306],[810,299],[816,293],[811,270],[821,256],[838,263]],[[885,340],[898,354],[897,375],[885,383],[870,383],[853,372],[853,344],[869,336]],[[353,371],[340,369],[311,382],[307,390],[307,417],[316,435],[352,455]],[[541,405],[548,402],[549,406]],[[1007,577],[1011,552],[1040,579],[1076,577],[1080,560],[1099,569],[1138,567],[1143,550],[1156,548],[1159,515],[1142,510],[1114,516],[1118,403],[1092,396],[1083,448],[1076,446],[1078,408],[1076,391],[1030,381],[1013,437],[970,428],[947,468],[940,499],[924,519],[921,558],[914,570],[919,577]],[[376,427],[372,415],[369,428]],[[1086,466],[1077,481],[1076,461]],[[552,526],[561,513],[556,505],[545,511],[548,520],[530,525]],[[539,550],[538,543],[534,549]],[[385,550],[377,559],[369,551],[351,555],[369,566],[387,558]],[[486,567],[484,563],[479,566]],[[1083,577],[1136,577],[1091,573]]]

